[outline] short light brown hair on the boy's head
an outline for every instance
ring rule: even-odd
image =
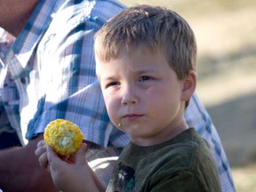
[[[164,7],[130,7],[108,20],[95,36],[97,60],[108,62],[138,47],[163,52],[179,79],[196,70],[196,38],[186,20]]]

